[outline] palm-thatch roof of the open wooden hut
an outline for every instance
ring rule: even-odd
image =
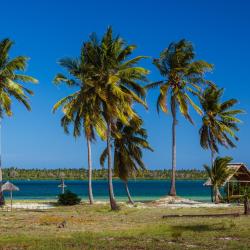
[[[250,171],[244,163],[230,163],[227,166],[232,170],[232,174],[228,176],[225,180],[223,186],[229,182],[232,178],[236,179],[238,182],[248,182],[250,183]],[[211,186],[210,178],[203,184],[203,186]]]

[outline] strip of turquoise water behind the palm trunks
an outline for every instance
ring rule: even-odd
[[[14,192],[16,200],[23,199],[56,199],[61,189],[58,188],[59,180],[47,181],[12,181],[20,188]],[[126,200],[124,184],[119,180],[114,180],[115,196],[118,200]],[[182,197],[208,201],[210,200],[210,189],[203,186],[202,180],[178,180],[176,181],[177,194]],[[81,180],[65,181],[67,189],[77,193],[82,199],[88,198],[88,182]],[[131,180],[129,181],[130,193],[134,200],[145,201],[159,199],[169,191],[170,181],[167,180]],[[93,193],[96,200],[108,199],[107,181],[93,181]],[[6,198],[9,193],[5,192]]]

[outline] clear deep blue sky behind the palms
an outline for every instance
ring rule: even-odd
[[[14,116],[5,117],[2,129],[3,165],[25,168],[87,166],[86,142],[75,140],[60,127],[61,112],[52,114],[53,104],[72,90],[56,87],[52,79],[62,72],[57,61],[75,57],[83,41],[107,26],[128,43],[138,46],[135,55],[157,57],[172,41],[193,42],[197,58],[215,65],[208,78],[225,88],[224,98],[237,98],[239,107],[250,113],[250,2],[245,0],[12,0],[0,3],[0,39],[15,41],[12,56],[31,59],[27,74],[39,79],[32,86],[32,112],[13,105]],[[142,63],[151,70],[150,80],[159,80],[152,60]],[[157,91],[147,97],[149,110],[139,112],[145,120],[154,153],[145,153],[150,169],[171,166],[171,116],[158,115]],[[180,118],[177,127],[178,168],[202,168],[210,153],[199,146],[200,117],[191,112],[196,125]],[[236,162],[250,165],[250,116],[241,116],[237,149],[221,150]],[[93,146],[93,162],[99,167],[104,144]]]

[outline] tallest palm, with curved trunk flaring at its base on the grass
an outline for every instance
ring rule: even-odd
[[[133,102],[146,106],[142,99],[145,90],[139,83],[146,81],[149,72],[136,66],[144,56],[128,59],[135,48],[134,45],[126,45],[119,36],[114,37],[109,27],[101,41],[92,35],[87,49],[93,72],[89,88],[95,91],[107,124],[108,188],[112,210],[118,209],[118,206],[112,183],[111,133],[115,133],[118,119],[125,125],[131,119],[139,120],[131,105]]]

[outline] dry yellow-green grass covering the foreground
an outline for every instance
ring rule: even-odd
[[[170,218],[242,212],[234,208],[128,208],[81,204],[41,211],[0,210],[0,249],[250,249],[250,217]],[[64,228],[58,225],[65,222]]]

